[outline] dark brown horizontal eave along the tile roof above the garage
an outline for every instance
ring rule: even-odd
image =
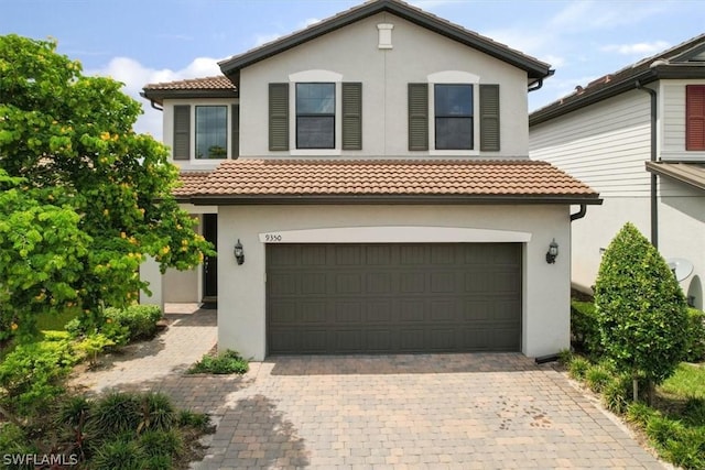
[[[250,205],[601,205],[589,195],[195,195],[196,206]]]

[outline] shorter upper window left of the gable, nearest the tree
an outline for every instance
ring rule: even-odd
[[[228,156],[228,108],[226,106],[196,107],[196,159]]]

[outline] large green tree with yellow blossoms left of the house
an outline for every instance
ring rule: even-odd
[[[134,302],[149,292],[147,255],[163,272],[214,254],[172,196],[169,150],[132,130],[141,106],[121,87],[84,76],[55,42],[0,36],[0,318],[20,329],[43,309],[96,317]]]

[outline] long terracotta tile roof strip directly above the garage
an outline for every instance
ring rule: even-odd
[[[196,198],[250,196],[463,196],[598,199],[587,185],[545,162],[413,160],[225,161]],[[599,204],[599,203],[596,203]]]

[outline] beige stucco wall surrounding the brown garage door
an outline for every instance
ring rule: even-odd
[[[218,284],[229,286],[218,293],[220,348],[234,348],[258,360],[265,354],[265,242],[261,239],[267,234],[276,238],[288,230],[370,227],[375,229],[369,233],[384,237],[395,233],[399,226],[484,229],[490,230],[490,238],[502,237],[502,232],[529,234],[522,255],[522,352],[534,357],[568,347],[571,233],[565,206],[227,206],[218,217],[220,252],[228,253],[228,247],[239,239],[246,255],[242,265],[234,256],[218,260]],[[409,231],[394,237],[408,241]],[[364,242],[359,233],[351,230],[349,241]],[[419,233],[425,233],[425,242],[468,240],[463,230],[455,239],[447,233],[434,238],[433,229]],[[561,252],[555,264],[547,264],[545,252],[554,238]],[[302,242],[300,238],[295,241]]]

